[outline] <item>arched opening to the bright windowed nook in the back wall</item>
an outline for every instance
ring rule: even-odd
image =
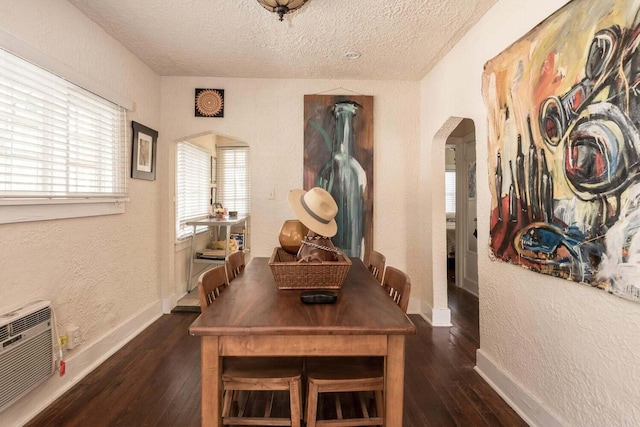
[[[249,213],[250,179],[243,176],[241,184],[233,182],[242,171],[248,175],[248,149],[246,142],[213,131],[185,136],[172,144],[170,200],[173,203],[169,210],[173,225],[173,292],[177,296],[172,311],[199,310],[198,276],[215,266],[216,261],[224,264],[224,254],[229,250],[227,242],[233,240],[230,249],[246,249],[248,253],[248,222],[231,227],[229,235],[226,227],[194,228],[188,224],[213,215],[219,205],[240,217]],[[246,203],[238,209],[236,205],[243,200]],[[239,210],[242,212],[238,213]],[[221,259],[211,255],[211,262],[200,262],[207,259],[204,255],[219,249],[218,246],[223,247]]]

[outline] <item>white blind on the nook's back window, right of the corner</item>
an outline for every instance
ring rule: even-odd
[[[217,201],[238,215],[250,213],[249,147],[218,147]]]

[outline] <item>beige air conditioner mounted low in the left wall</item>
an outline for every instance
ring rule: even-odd
[[[51,303],[0,312],[0,412],[55,371]]]

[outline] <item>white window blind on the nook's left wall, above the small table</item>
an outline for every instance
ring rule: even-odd
[[[188,142],[178,143],[176,158],[176,238],[190,236],[187,221],[209,214],[211,199],[211,154]],[[196,232],[206,229],[201,227]]]

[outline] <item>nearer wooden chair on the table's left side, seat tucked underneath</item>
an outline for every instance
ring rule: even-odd
[[[242,258],[244,261],[244,257]],[[244,265],[243,265],[244,267]],[[202,273],[198,279],[200,309],[211,307],[227,286],[228,276],[221,265]],[[221,301],[219,301],[221,303]],[[302,419],[302,358],[292,357],[227,357],[222,364],[222,424],[223,425],[268,425],[300,427]],[[290,418],[273,417],[272,407],[275,391],[289,392]],[[250,409],[249,395],[252,391],[270,392],[270,397],[256,402],[264,403],[264,410],[256,415]],[[241,394],[242,393],[242,394]],[[237,412],[232,415],[233,403]]]

